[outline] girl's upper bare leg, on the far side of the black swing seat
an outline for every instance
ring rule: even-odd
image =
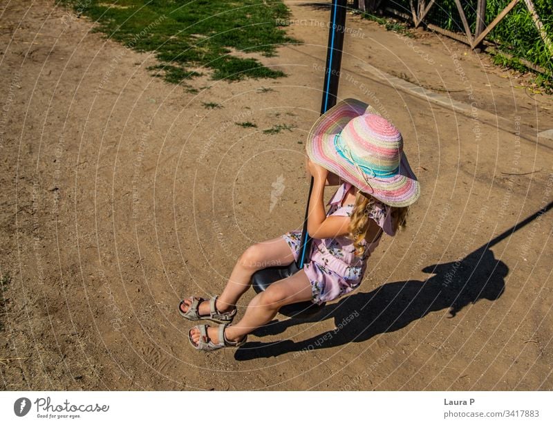
[[[217,299],[216,309],[220,312],[233,310],[238,299],[250,287],[252,274],[257,270],[275,265],[288,265],[292,261],[294,261],[292,250],[281,237],[255,243],[248,247],[238,258],[238,262],[230,274],[225,289]],[[185,300],[185,304],[190,305],[191,301],[187,299]],[[186,312],[187,307],[183,305],[181,310],[182,312]],[[200,314],[209,314],[209,301],[200,303],[198,305],[198,312]]]

